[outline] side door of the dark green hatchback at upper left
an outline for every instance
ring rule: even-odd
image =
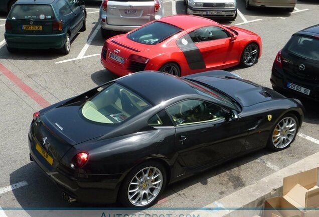
[[[83,21],[83,16],[81,12],[80,3],[78,0],[65,0],[72,11],[72,16],[70,20],[71,26],[71,38],[73,38],[80,30]]]

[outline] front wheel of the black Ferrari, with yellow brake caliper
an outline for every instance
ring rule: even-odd
[[[288,148],[296,138],[298,127],[299,121],[295,115],[287,114],[281,117],[271,130],[267,143],[268,148],[274,151]]]

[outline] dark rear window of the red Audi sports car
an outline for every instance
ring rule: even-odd
[[[180,32],[181,29],[162,22],[153,22],[130,34],[127,38],[142,44],[157,44]]]

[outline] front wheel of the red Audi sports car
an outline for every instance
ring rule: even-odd
[[[255,64],[259,56],[259,47],[256,43],[249,43],[243,50],[240,58],[240,65],[250,67]]]

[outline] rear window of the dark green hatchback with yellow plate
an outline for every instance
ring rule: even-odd
[[[11,20],[54,20],[54,12],[50,5],[16,4],[10,11],[8,18]]]

